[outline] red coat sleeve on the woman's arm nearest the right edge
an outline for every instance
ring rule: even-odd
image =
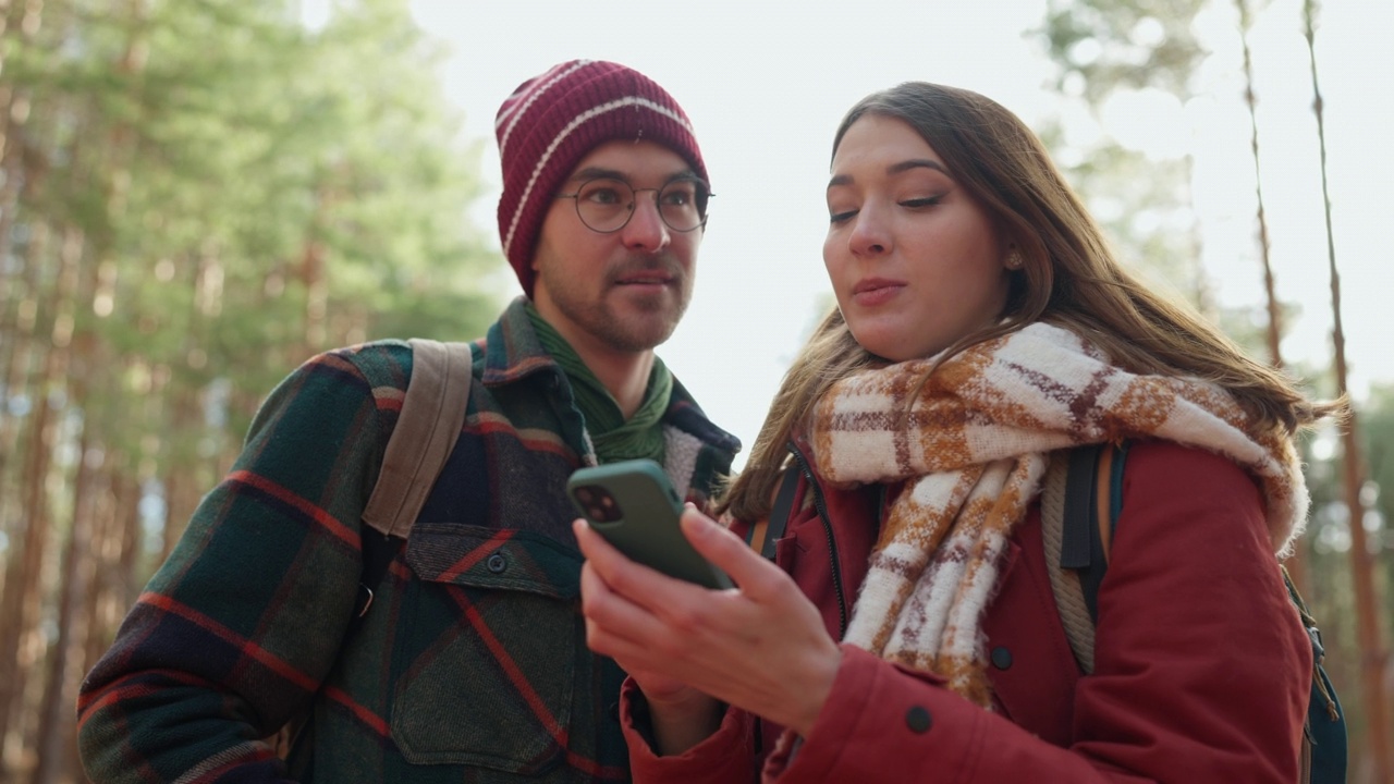
[[[1312,654],[1255,484],[1143,444],[1124,494],[1068,748],[843,646],[814,730],[781,741],[765,781],[1295,781]]]

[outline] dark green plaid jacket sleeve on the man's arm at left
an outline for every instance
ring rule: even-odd
[[[277,781],[262,741],[305,710],[337,654],[382,456],[371,385],[346,354],[287,377],[82,684],[92,781]]]

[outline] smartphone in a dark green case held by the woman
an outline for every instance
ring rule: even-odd
[[[631,561],[704,587],[732,587],[730,578],[687,543],[677,526],[683,501],[654,460],[577,469],[566,494],[591,529]]]

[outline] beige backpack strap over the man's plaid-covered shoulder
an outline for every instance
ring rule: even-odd
[[[397,425],[388,438],[382,472],[362,522],[383,536],[406,538],[464,425],[474,357],[468,343],[413,338],[411,378]]]

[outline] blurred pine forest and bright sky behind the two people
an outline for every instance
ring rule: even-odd
[[[477,336],[516,294],[493,112],[569,57],[643,70],[697,126],[718,198],[661,353],[747,444],[831,304],[832,130],[912,78],[1018,112],[1131,266],[1348,391],[1349,437],[1308,441],[1296,572],[1351,780],[1394,781],[1391,8],[0,0],[0,781],[84,780],[77,685],[276,381],[340,345]]]

